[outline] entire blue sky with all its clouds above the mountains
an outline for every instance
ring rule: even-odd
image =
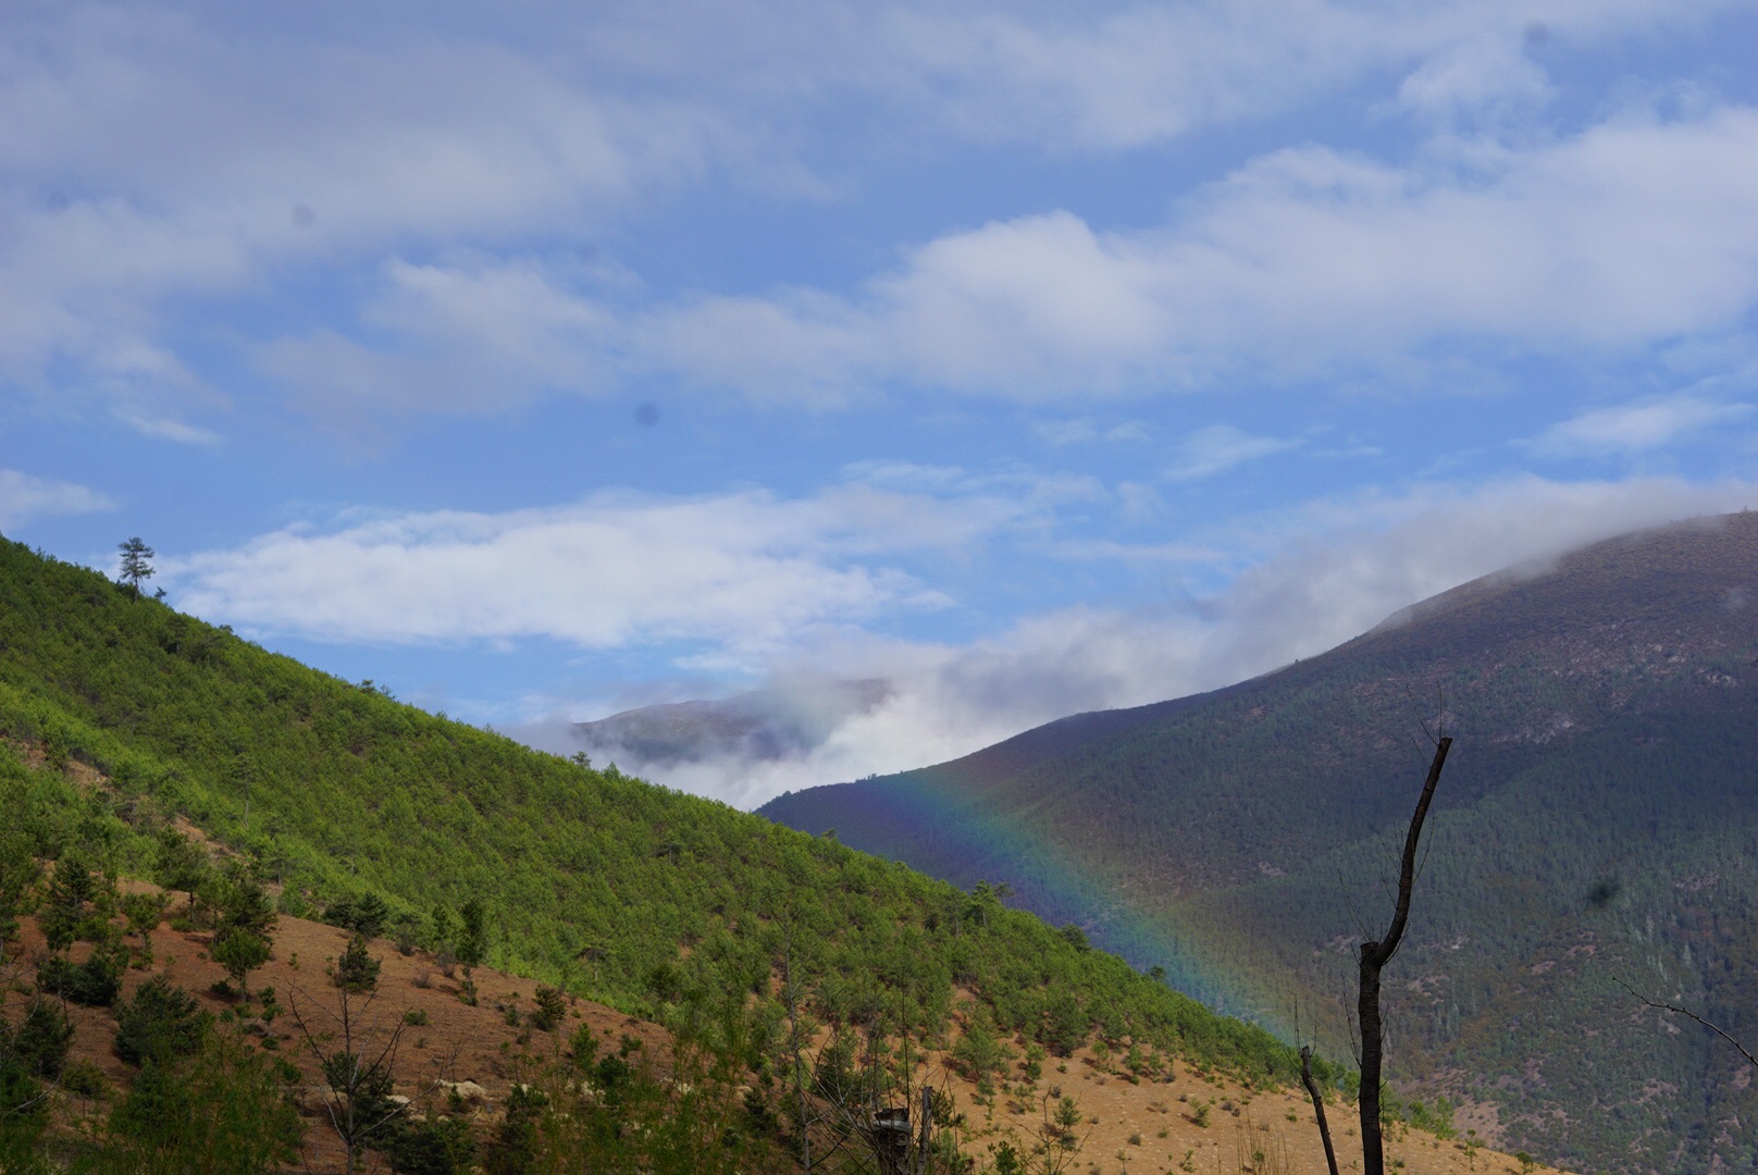
[[[649,767],[738,806],[1215,688],[1758,501],[1753,44],[1718,0],[12,0],[0,531],[139,535],[169,603],[547,749],[816,707]]]

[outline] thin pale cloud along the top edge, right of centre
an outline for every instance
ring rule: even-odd
[[[1542,97],[1528,30],[1605,44],[1689,28],[1726,4],[1326,4],[1234,0],[898,7],[874,44],[881,77],[951,128],[1086,150],[1162,142],[1282,113],[1362,76],[1401,76],[1424,113]]]

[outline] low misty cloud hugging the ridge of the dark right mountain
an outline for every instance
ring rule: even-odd
[[[1234,519],[1217,524],[1215,547],[1178,552],[1192,563],[1239,568],[1210,596],[1134,609],[1071,607],[962,646],[842,630],[772,661],[782,679],[828,674],[886,684],[881,702],[847,707],[816,746],[775,758],[619,762],[670,786],[756,806],[784,790],[956,758],[1072,712],[1243,681],[1331,649],[1478,575],[1754,500],[1754,482],[1515,477],[1478,487],[1350,494]],[[578,702],[573,712],[598,716]],[[524,733],[552,749],[580,746],[561,723]]]

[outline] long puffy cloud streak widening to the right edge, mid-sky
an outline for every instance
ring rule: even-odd
[[[1475,348],[1628,357],[1742,329],[1758,303],[1753,155],[1751,109],[1631,114],[1405,169],[1294,148],[1164,230],[997,222],[853,299],[703,299],[643,324],[638,347],[703,383],[805,399],[895,380],[1048,399],[1408,378]]]

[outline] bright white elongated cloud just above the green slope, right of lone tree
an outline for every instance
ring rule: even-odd
[[[508,514],[404,514],[292,528],[165,561],[179,607],[322,640],[589,649],[705,642],[719,663],[816,626],[948,598],[897,566],[1030,521],[1028,500],[851,484],[812,498],[599,494]],[[879,563],[868,563],[877,559]]]

